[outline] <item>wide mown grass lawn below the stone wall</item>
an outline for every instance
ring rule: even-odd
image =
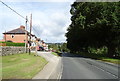
[[[3,79],[31,79],[43,67],[47,61],[34,54],[16,54],[2,56],[2,78]]]

